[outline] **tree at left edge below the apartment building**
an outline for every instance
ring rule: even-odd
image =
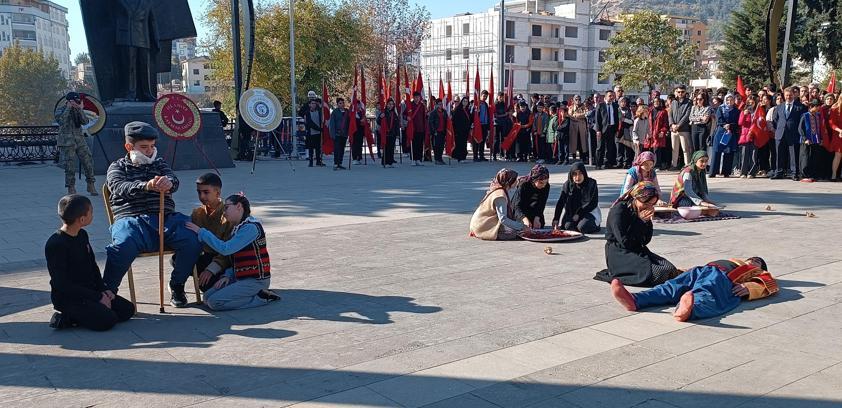
[[[0,123],[51,124],[53,107],[66,90],[67,80],[54,57],[18,43],[0,56]]]

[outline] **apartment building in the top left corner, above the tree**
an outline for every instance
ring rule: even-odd
[[[0,53],[15,42],[55,57],[70,79],[66,8],[46,0],[0,0]]]

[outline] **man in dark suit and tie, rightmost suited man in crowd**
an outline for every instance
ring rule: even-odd
[[[789,175],[793,180],[798,180],[798,152],[801,147],[798,124],[807,108],[798,100],[797,94],[797,90],[787,88],[784,90],[784,103],[775,108],[772,127],[775,128],[777,163],[775,170],[770,172],[771,179],[782,179]],[[789,174],[786,174],[787,164]]]

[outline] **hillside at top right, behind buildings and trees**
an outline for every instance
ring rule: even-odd
[[[663,14],[698,18],[708,24],[711,42],[722,40],[722,29],[731,13],[740,7],[738,0],[609,0],[612,9],[624,12],[654,10]]]

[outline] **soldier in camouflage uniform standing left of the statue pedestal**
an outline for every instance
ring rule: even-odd
[[[79,94],[69,92],[66,99],[67,105],[56,117],[59,126],[56,146],[64,160],[64,186],[67,187],[67,194],[76,194],[76,167],[77,161],[81,161],[88,182],[88,193],[97,195],[94,185],[94,160],[82,133],[82,125],[88,123],[88,117],[82,111]]]

